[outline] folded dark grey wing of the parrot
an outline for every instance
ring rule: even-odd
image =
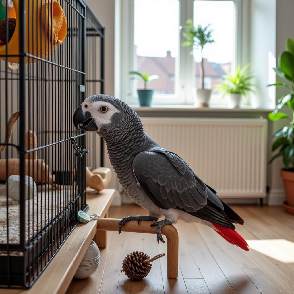
[[[193,173],[179,156],[163,148],[139,153],[133,171],[144,191],[160,208],[196,212],[210,200],[219,208],[223,204]]]

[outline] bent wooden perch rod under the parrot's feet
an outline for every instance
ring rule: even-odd
[[[117,231],[120,219],[99,218],[98,230]],[[140,221],[140,225],[136,221],[128,221],[123,226],[122,232],[149,233],[157,234],[156,227],[150,227],[150,221]],[[167,247],[167,277],[170,279],[178,278],[178,231],[173,225],[165,225],[161,233],[166,236]],[[156,240],[154,241],[156,242]]]

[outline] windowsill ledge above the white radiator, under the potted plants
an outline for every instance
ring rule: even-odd
[[[222,106],[210,106],[198,108],[194,105],[153,105],[149,106],[131,106],[134,111],[139,112],[159,112],[159,111],[178,111],[178,112],[264,112],[269,113],[272,112],[271,108],[253,108],[251,106],[242,106],[241,108],[228,108]]]

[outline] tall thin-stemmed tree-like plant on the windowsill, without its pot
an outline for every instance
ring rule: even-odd
[[[182,45],[200,49],[200,80],[201,88],[204,89],[203,48],[206,44],[214,42],[211,37],[213,31],[209,29],[210,24],[204,27],[201,25],[194,27],[193,19],[188,19],[186,24],[187,25],[184,27],[185,31],[183,32],[183,36],[186,38],[186,41]]]

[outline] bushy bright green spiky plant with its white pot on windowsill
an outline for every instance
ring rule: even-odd
[[[252,75],[246,73],[248,67],[249,64],[245,65],[242,69],[238,66],[233,75],[227,72],[223,76],[225,80],[216,85],[216,90],[220,91],[223,97],[228,97],[230,108],[240,107],[242,96],[247,96],[248,93],[253,91],[253,84],[251,83]]]

